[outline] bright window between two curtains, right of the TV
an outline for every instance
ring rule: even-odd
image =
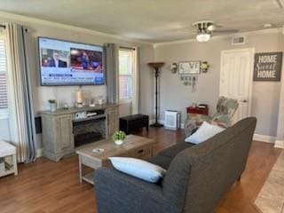
[[[132,98],[132,50],[119,51],[119,97],[120,100]]]

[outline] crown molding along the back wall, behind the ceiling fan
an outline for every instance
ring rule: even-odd
[[[259,30],[235,33],[235,34],[230,34],[230,35],[213,36],[211,37],[210,40],[232,38],[234,36],[252,36],[252,35],[272,34],[272,33],[281,33],[281,32],[284,32],[284,26],[283,28],[259,29]],[[164,42],[164,43],[154,43],[153,46],[154,48],[156,48],[156,47],[163,46],[163,45],[171,45],[171,44],[178,44],[178,43],[197,43],[197,41],[195,38],[190,38],[190,39],[176,40],[176,41],[170,41],[170,42]]]

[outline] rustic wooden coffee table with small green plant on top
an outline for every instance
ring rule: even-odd
[[[111,156],[134,157],[148,159],[153,156],[154,140],[135,135],[128,135],[122,145],[115,145],[111,139],[104,139],[89,145],[81,146],[76,149],[79,156],[79,179],[80,183],[86,181],[93,182],[93,172],[84,172],[85,167],[98,170],[100,167],[110,166],[111,162],[107,159]],[[94,149],[104,151],[93,152]]]

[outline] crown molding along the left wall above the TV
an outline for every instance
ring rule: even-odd
[[[51,21],[51,20],[42,20],[42,19],[37,19],[33,17],[14,14],[11,12],[0,11],[0,17],[4,19],[14,20],[15,22],[21,22],[21,23],[27,22],[27,23],[33,23],[33,24],[38,24],[38,25],[43,25],[43,26],[48,26],[48,27],[53,27],[53,28],[62,28],[62,29],[76,31],[76,32],[91,34],[95,36],[105,36],[105,37],[114,38],[114,39],[127,41],[127,42],[144,43],[144,44],[150,44],[150,45],[154,44],[154,43],[145,42],[139,39],[130,38],[127,36],[117,36],[113,34],[107,34],[107,33],[93,30],[93,29],[75,27],[72,25],[62,24],[62,23],[58,23],[55,21]]]

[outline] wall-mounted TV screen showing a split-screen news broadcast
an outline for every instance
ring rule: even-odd
[[[38,37],[42,86],[105,84],[102,46]]]

